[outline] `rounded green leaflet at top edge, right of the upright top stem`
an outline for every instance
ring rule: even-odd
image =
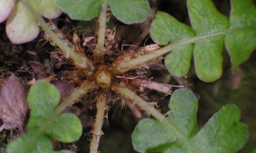
[[[125,24],[144,22],[151,14],[147,0],[109,0],[109,6],[113,15]]]

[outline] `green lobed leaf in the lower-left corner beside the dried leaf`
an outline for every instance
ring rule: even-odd
[[[69,113],[53,115],[59,101],[60,94],[54,85],[45,81],[34,83],[28,94],[31,109],[28,133],[9,143],[7,153],[55,153],[48,137],[61,142],[78,140],[82,134],[78,117]]]

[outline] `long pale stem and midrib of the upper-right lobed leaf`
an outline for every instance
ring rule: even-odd
[[[201,35],[201,36],[194,36],[192,38],[186,39],[186,40],[182,40],[179,42],[176,42],[174,44],[169,44],[167,46],[164,46],[163,48],[157,49],[153,52],[149,52],[145,55],[142,55],[140,57],[136,57],[134,59],[130,59],[129,61],[120,61],[117,62],[116,64],[114,64],[112,66],[113,70],[117,70],[118,72],[127,72],[131,69],[134,69],[136,66],[150,61],[152,59],[155,59],[157,57],[163,56],[164,54],[170,52],[171,50],[174,50],[180,46],[184,46],[187,44],[192,44],[194,42],[196,42],[197,40],[200,39],[205,39],[207,37],[212,37],[212,36],[216,36],[216,35],[225,35],[227,33],[234,33],[234,32],[239,32],[239,31],[245,31],[245,30],[255,30],[253,28],[236,28],[236,29],[227,29],[227,30],[223,30],[223,31],[217,31],[214,33],[209,33],[209,34],[205,34],[205,35]]]

